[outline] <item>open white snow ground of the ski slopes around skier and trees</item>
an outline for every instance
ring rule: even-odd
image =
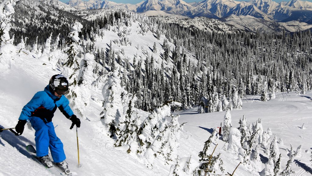
[[[12,50],[15,52],[14,49]],[[52,69],[52,65],[46,57],[38,59],[32,57],[30,53],[20,52],[19,57],[16,55],[16,58],[13,59],[7,68],[0,67],[0,127],[2,128],[15,127],[22,107],[37,91],[44,89],[52,75],[61,73],[60,70]],[[100,91],[92,92],[92,96],[103,100]],[[294,163],[292,166],[295,171],[293,175],[311,175],[312,167],[309,162],[312,150],[311,97],[312,93],[305,95],[298,95],[294,92],[279,93],[276,94],[276,99],[261,102],[259,101],[260,96],[246,96],[243,98],[242,110],[231,111],[232,126],[239,127],[238,122],[243,115],[250,124],[260,118],[264,131],[271,128],[271,140],[275,134],[277,139],[282,138],[283,140],[284,144],[278,144],[281,153],[281,170],[285,168],[289,159],[287,149],[290,149],[291,143],[293,150],[302,145],[301,155],[295,157],[296,164]],[[69,163],[73,175],[169,175],[171,164],[174,162],[165,165],[163,160],[157,159],[153,168],[148,168],[141,158],[128,154],[127,148],[114,147],[114,141],[107,136],[100,122],[99,114],[102,110],[100,103],[91,101],[90,108],[86,111],[87,119],[81,118],[81,127],[78,129],[81,168],[76,167],[78,164],[76,130],[75,128],[69,129],[71,121],[67,120],[59,110],[55,113],[52,122],[56,134],[64,143],[66,161]],[[145,118],[149,113],[141,111],[139,114]],[[225,112],[198,114],[197,107],[194,107],[187,111],[174,112],[174,114],[181,115],[180,124],[187,122],[179,139],[180,167],[185,167],[184,164],[188,161],[193,163],[193,167],[198,163],[198,153],[202,151],[204,142],[211,135],[213,129],[220,127],[220,123],[223,122]],[[302,128],[303,124],[304,128]],[[8,130],[0,133],[0,176],[52,175],[46,168],[38,164],[25,149],[28,144],[35,145],[34,133],[27,127],[22,136],[15,136]],[[240,162],[237,154],[222,150],[225,144],[222,140],[218,139],[216,143],[218,146],[214,155],[221,153],[225,169],[223,175],[227,172],[232,173]],[[212,152],[214,146],[214,144],[210,146],[209,153]],[[261,147],[259,153],[263,162],[262,168],[259,169],[261,171],[265,167],[264,163],[268,160],[268,156]],[[241,164],[234,175],[263,175],[259,172]]]

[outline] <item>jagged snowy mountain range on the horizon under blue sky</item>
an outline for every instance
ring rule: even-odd
[[[300,0],[281,3],[276,3],[272,0],[251,0],[249,2],[204,0],[199,3],[186,3],[183,0],[147,0],[137,4],[114,3],[107,0],[70,0],[67,4],[80,9],[121,7],[138,13],[155,10],[191,18],[207,17],[219,19],[231,15],[242,15],[266,21],[284,23],[298,21],[312,24],[312,3]]]

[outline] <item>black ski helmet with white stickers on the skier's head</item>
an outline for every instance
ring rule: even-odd
[[[59,95],[64,95],[68,91],[68,80],[63,75],[53,75],[50,79],[50,88]]]

